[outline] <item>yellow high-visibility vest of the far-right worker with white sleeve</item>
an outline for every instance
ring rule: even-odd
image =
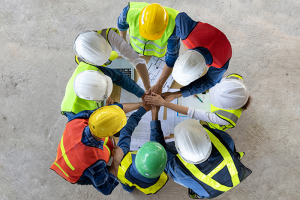
[[[240,76],[238,74],[230,74],[226,77],[226,79],[243,79],[243,78],[242,78],[242,76]],[[219,125],[219,124],[207,122],[209,127],[213,128],[213,129],[218,129],[221,131],[226,131],[229,128],[235,127],[238,119],[242,115],[243,109],[239,108],[239,109],[235,109],[235,110],[225,110],[225,109],[218,108],[211,104],[211,112],[218,115],[218,117],[220,117],[221,119],[224,119],[225,121],[229,122],[229,124],[228,125]]]

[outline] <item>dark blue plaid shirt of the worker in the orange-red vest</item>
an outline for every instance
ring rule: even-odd
[[[118,105],[123,109],[122,104],[114,105]],[[79,112],[76,115],[74,113],[68,113],[68,121],[77,118],[88,119],[94,111],[95,110],[85,110]],[[103,150],[103,141],[97,141],[95,138],[93,138],[88,126],[86,126],[82,132],[81,142],[87,146],[97,147]],[[109,195],[119,184],[119,181],[117,177],[108,172],[106,162],[104,160],[98,160],[93,165],[84,170],[77,184],[93,185],[99,192],[102,192],[104,195]]]

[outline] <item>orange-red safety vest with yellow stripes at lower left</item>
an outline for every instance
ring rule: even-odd
[[[76,183],[84,170],[98,160],[109,161],[113,150],[113,143],[107,138],[103,150],[90,147],[81,142],[82,132],[88,126],[88,119],[74,119],[67,123],[57,148],[57,156],[51,169],[71,183]]]

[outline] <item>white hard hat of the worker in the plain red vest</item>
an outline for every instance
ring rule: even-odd
[[[177,58],[172,76],[177,83],[186,86],[203,76],[206,68],[202,54],[195,50],[188,50]]]

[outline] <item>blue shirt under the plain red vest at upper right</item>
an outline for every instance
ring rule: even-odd
[[[193,31],[198,22],[192,20],[186,13],[180,13],[176,19],[176,36],[185,40],[188,35]],[[204,47],[197,47],[193,50],[201,53],[206,61],[207,65],[211,65],[213,58],[208,49]],[[201,78],[191,82],[189,85],[180,88],[183,97],[188,97],[193,94],[199,94],[205,92],[211,87],[219,83],[226,72],[229,65],[229,61],[222,66],[222,68],[209,67],[207,73]]]

